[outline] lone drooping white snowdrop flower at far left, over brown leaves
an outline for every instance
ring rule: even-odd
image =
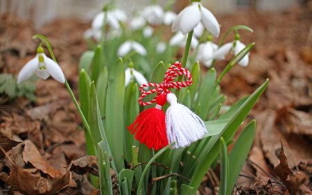
[[[53,59],[46,57],[42,46],[37,48],[37,55],[21,68],[17,77],[17,84],[28,80],[33,74],[36,74],[43,80],[46,80],[51,75],[58,82],[65,82],[65,76],[62,69],[53,61]]]

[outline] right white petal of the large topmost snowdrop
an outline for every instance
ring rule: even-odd
[[[214,15],[203,6],[200,7],[200,15],[202,17],[202,24],[204,24],[212,35],[218,37],[220,34],[220,26],[216,17],[214,17]]]

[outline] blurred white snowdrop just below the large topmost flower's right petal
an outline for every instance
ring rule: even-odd
[[[218,49],[218,45],[214,44],[211,41],[207,41],[206,43],[202,43],[198,46],[198,54],[196,59],[202,62],[206,67],[210,67],[211,63],[214,59],[214,52]],[[224,58],[224,56],[218,57],[218,59]]]

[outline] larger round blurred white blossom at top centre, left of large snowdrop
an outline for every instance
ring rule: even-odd
[[[149,24],[158,25],[162,24],[164,17],[164,10],[159,5],[147,6],[143,10],[143,16]]]

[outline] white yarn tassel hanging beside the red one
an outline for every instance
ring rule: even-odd
[[[175,142],[173,148],[187,147],[207,133],[205,123],[187,106],[178,104],[175,94],[168,93],[167,102],[171,106],[166,111],[166,130],[168,142]]]

